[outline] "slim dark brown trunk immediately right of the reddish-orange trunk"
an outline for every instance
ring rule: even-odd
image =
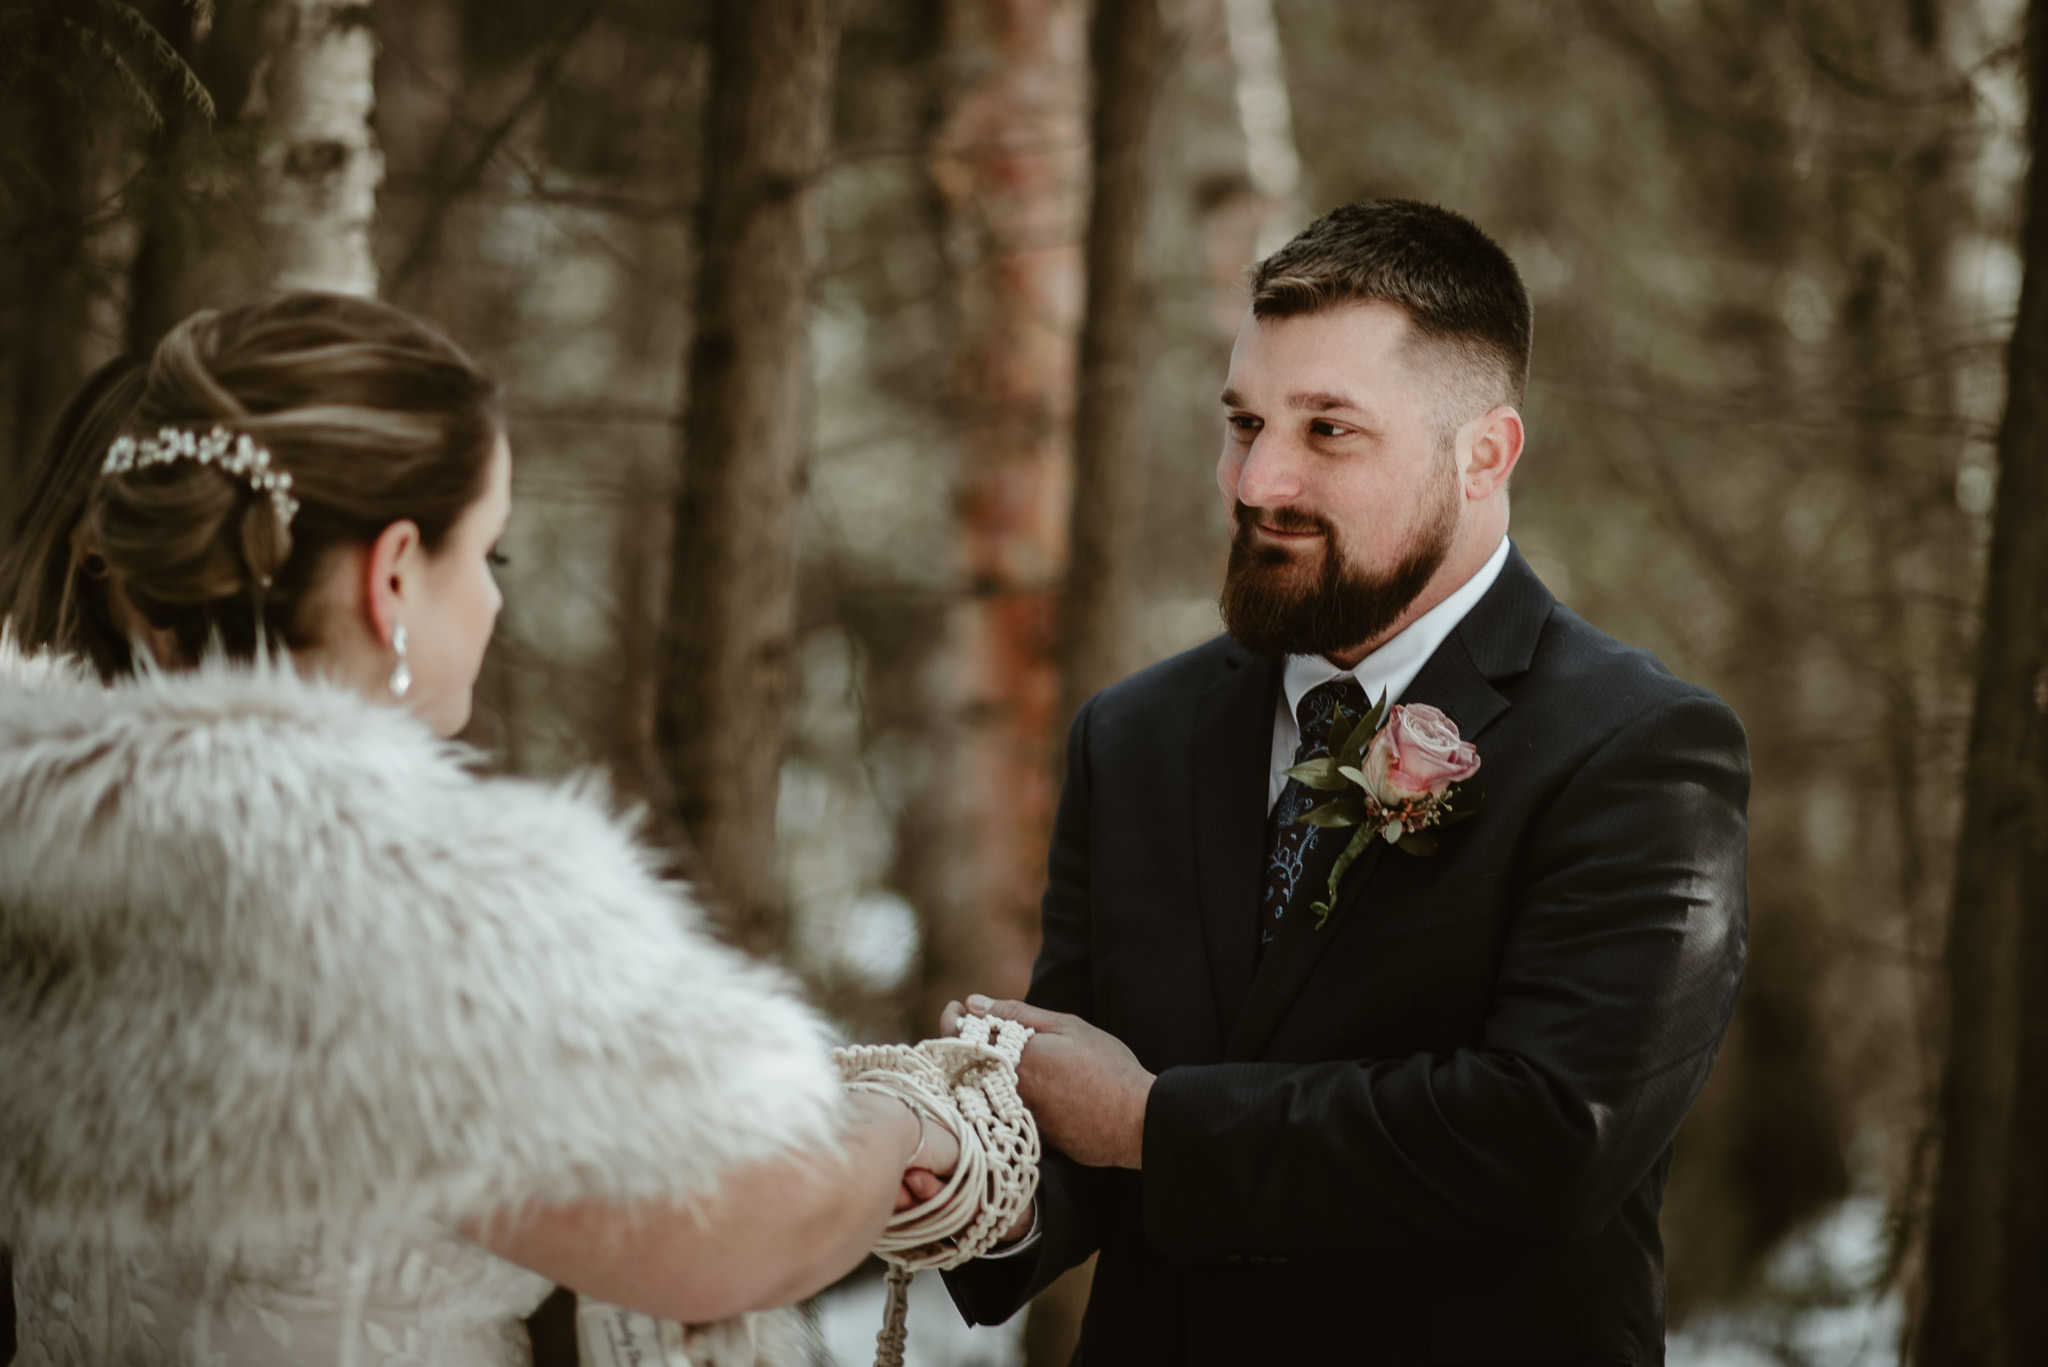
[[[1096,109],[1087,209],[1087,305],[1073,416],[1073,516],[1061,603],[1063,701],[1069,721],[1137,662],[1130,648],[1133,562],[1143,461],[1139,322],[1153,105],[1165,74],[1159,0],[1096,0],[1090,33]]]

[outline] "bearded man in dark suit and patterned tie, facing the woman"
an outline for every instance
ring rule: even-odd
[[[1090,1367],[1663,1361],[1749,762],[1507,541],[1528,348],[1513,264],[1444,209],[1350,205],[1257,266],[1229,635],[1081,709],[1030,1004],[969,1002],[1040,1031],[1057,1150],[1034,1228],[948,1275],[971,1322],[1100,1250]],[[1403,769],[1477,746],[1475,814],[1430,855],[1372,836],[1319,918],[1354,830],[1292,820],[1339,793],[1284,771],[1382,695],[1458,730],[1399,713]]]

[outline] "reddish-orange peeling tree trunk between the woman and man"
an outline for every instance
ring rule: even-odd
[[[961,326],[963,801],[989,926],[983,992],[1022,996],[1053,828],[1085,184],[1077,0],[950,0],[932,182]]]

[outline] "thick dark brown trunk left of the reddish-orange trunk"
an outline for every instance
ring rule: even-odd
[[[655,719],[727,930],[776,951],[774,810],[795,635],[815,180],[838,0],[717,6],[696,334]]]

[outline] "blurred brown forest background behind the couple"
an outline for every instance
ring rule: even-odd
[[[2025,35],[2021,0],[0,0],[0,523],[68,391],[195,307],[434,320],[516,455],[473,740],[608,769],[733,939],[915,1037],[1024,988],[1077,699],[1219,631],[1245,266],[1348,199],[1454,207],[1536,301],[1516,541],[1751,736],[1673,1363],[2040,1363],[2001,1293],[2042,1285],[2038,549],[1999,562],[2005,732],[1978,668],[1995,527],[2048,539],[2040,473],[2003,496],[2048,465],[2038,396],[2007,414],[2007,346],[2048,373]],[[2032,834],[1978,820],[1978,750]],[[1972,883],[1999,851],[2034,881]],[[1065,1361],[1075,1303],[952,1361]]]

